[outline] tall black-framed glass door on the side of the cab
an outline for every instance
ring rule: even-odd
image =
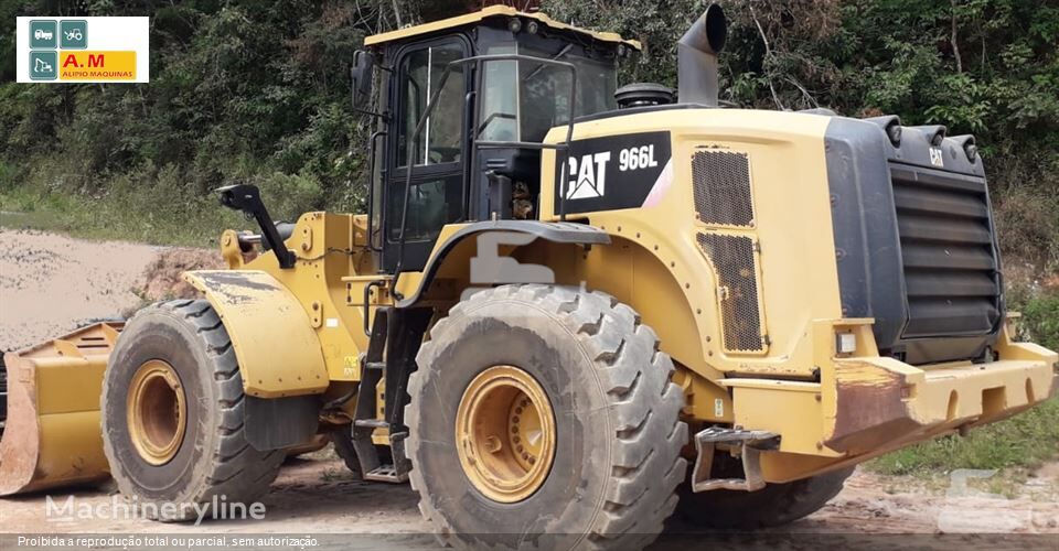
[[[413,134],[427,101],[441,86],[446,66],[470,56],[470,43],[462,36],[447,36],[410,44],[396,55],[389,97],[395,110],[383,179],[383,267],[387,272],[393,272],[398,263],[402,208],[409,171],[411,186],[404,222],[403,271],[421,270],[442,226],[464,219],[468,67],[453,67],[422,131],[415,138]]]

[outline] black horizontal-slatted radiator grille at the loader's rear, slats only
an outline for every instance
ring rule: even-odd
[[[890,164],[909,320],[903,337],[984,335],[1001,279],[985,181]]]

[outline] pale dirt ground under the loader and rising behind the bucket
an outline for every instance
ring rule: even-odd
[[[143,271],[159,266],[156,260],[161,252],[165,251],[142,245],[88,242],[0,229],[0,348],[24,346],[69,329],[82,320],[136,307],[142,294],[137,290],[151,287],[145,283]],[[154,276],[153,285],[158,287],[158,273]],[[823,510],[772,533],[1059,534],[1059,465],[1047,466],[1021,485],[1016,499],[959,496],[951,488],[946,496],[944,490],[927,491],[919,489],[921,486],[858,471],[846,489]],[[85,505],[98,510],[98,506],[111,503],[107,488],[86,488],[54,494],[52,507],[62,507],[68,495],[74,496],[77,507]],[[264,521],[227,520],[194,526],[127,518],[99,520],[77,515],[49,518],[44,496],[23,496],[0,499],[0,532],[359,532],[397,534],[393,536],[397,539],[386,541],[394,547],[418,547],[414,543],[421,544],[421,540],[402,539],[399,534],[410,537],[429,529],[420,519],[417,497],[407,485],[353,480],[329,450],[291,461],[263,503],[267,509]],[[671,530],[682,532],[688,527],[674,525]]]

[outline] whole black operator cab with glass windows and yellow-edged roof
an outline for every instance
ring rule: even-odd
[[[425,26],[368,37],[353,67],[361,110],[379,77],[370,223],[391,273],[421,270],[447,224],[535,219],[545,134],[614,109],[640,47],[507,7]]]

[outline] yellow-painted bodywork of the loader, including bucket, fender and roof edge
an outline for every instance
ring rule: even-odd
[[[395,31],[368,44],[437,34],[485,17],[510,15],[505,10],[511,9],[489,10]],[[595,37],[621,42],[616,36]],[[1001,328],[993,361],[913,366],[880,355],[875,320],[844,314],[827,187],[830,120],[681,108],[577,122],[574,141],[664,132],[671,165],[642,206],[564,216],[554,199],[561,185],[555,174],[563,171],[556,169],[555,150],[545,150],[535,217],[597,228],[610,244],[588,247],[537,238],[501,248],[522,263],[549,268],[556,284],[605,291],[638,311],[676,364],[675,380],[685,392],[683,419],[693,431],[723,423],[779,435],[779,447],[761,454],[766,482],[813,476],[993,422],[1056,393],[1059,355],[1014,342],[1009,321]],[[552,129],[545,142],[559,143],[565,132],[565,127]],[[721,224],[698,215],[691,163],[698,152],[747,160],[752,216],[746,223]],[[477,240],[457,239],[470,224],[441,228],[428,269],[402,273],[396,289],[394,276],[381,273],[367,224],[364,215],[302,215],[286,239],[296,257],[287,269],[274,252],[248,255],[240,236],[228,230],[221,253],[229,270],[185,274],[224,322],[249,396],[322,395],[333,400],[356,390],[357,398],[366,392],[384,398],[385,381],[356,389],[365,378],[362,355],[378,309],[415,298],[417,306],[432,307],[435,318],[443,317],[473,287],[470,260],[479,252]],[[717,238],[749,244],[749,258],[737,273],[704,246]],[[732,278],[752,285],[734,287]],[[748,326],[740,304],[756,309],[755,326]],[[105,476],[97,397],[117,328],[95,326],[9,355],[11,419],[0,446],[0,493]],[[748,335],[753,346],[746,346]],[[99,346],[86,350],[68,344],[89,337]],[[839,342],[854,343],[853,348],[839,349]],[[71,380],[82,382],[69,386]],[[347,423],[357,398],[344,401],[341,412],[321,412],[321,420]],[[379,406],[377,417],[383,415]],[[375,436],[375,443],[387,443],[384,430]]]

